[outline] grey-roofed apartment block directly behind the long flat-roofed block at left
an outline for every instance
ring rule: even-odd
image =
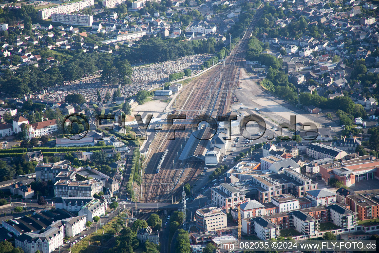
[[[55,178],[61,171],[71,171],[71,169],[72,168],[70,162],[67,160],[63,160],[56,163],[38,163],[35,168],[36,180],[46,182],[51,180],[53,183],[55,183]]]

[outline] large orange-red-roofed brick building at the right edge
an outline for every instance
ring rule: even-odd
[[[379,159],[375,156],[346,157],[345,160],[320,165],[320,174],[326,183],[334,178],[350,187],[354,186],[357,181],[379,178],[378,166]]]

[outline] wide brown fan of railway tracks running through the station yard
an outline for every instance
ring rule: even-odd
[[[243,38],[233,49],[231,55],[225,59],[225,66],[222,66],[223,64],[216,66],[183,88],[180,94],[181,99],[176,102],[175,110],[177,113],[180,113],[181,110],[186,110],[187,118],[195,118],[199,115],[199,111],[187,110],[210,108],[205,113],[212,116],[223,115],[230,111],[232,91],[236,88],[238,82],[242,60],[244,59],[244,49],[257,19],[262,13],[263,9],[258,9]],[[168,128],[169,125],[164,127]],[[184,128],[184,125],[182,127]],[[185,146],[185,141],[190,134],[187,130],[176,131],[175,138],[169,139],[174,137],[170,136],[173,135],[172,132],[157,132],[155,140],[150,144],[149,148],[152,155],[147,158],[145,163],[142,179],[143,192],[139,193],[141,202],[170,202],[175,200],[175,195],[181,196],[184,183],[196,180],[196,175],[200,174],[201,171],[199,170],[201,164],[196,161],[186,161],[183,164],[178,160],[180,152]],[[158,162],[165,149],[169,149],[169,152],[161,165],[159,173],[156,173]]]

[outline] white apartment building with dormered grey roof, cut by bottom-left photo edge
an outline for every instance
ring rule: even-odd
[[[63,245],[63,228],[49,227],[43,233],[23,233],[14,239],[14,246],[20,247],[25,253],[37,250],[50,253]]]

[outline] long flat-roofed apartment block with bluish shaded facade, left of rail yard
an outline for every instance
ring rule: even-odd
[[[103,190],[103,182],[93,178],[85,181],[60,179],[54,184],[55,197],[92,197]]]

